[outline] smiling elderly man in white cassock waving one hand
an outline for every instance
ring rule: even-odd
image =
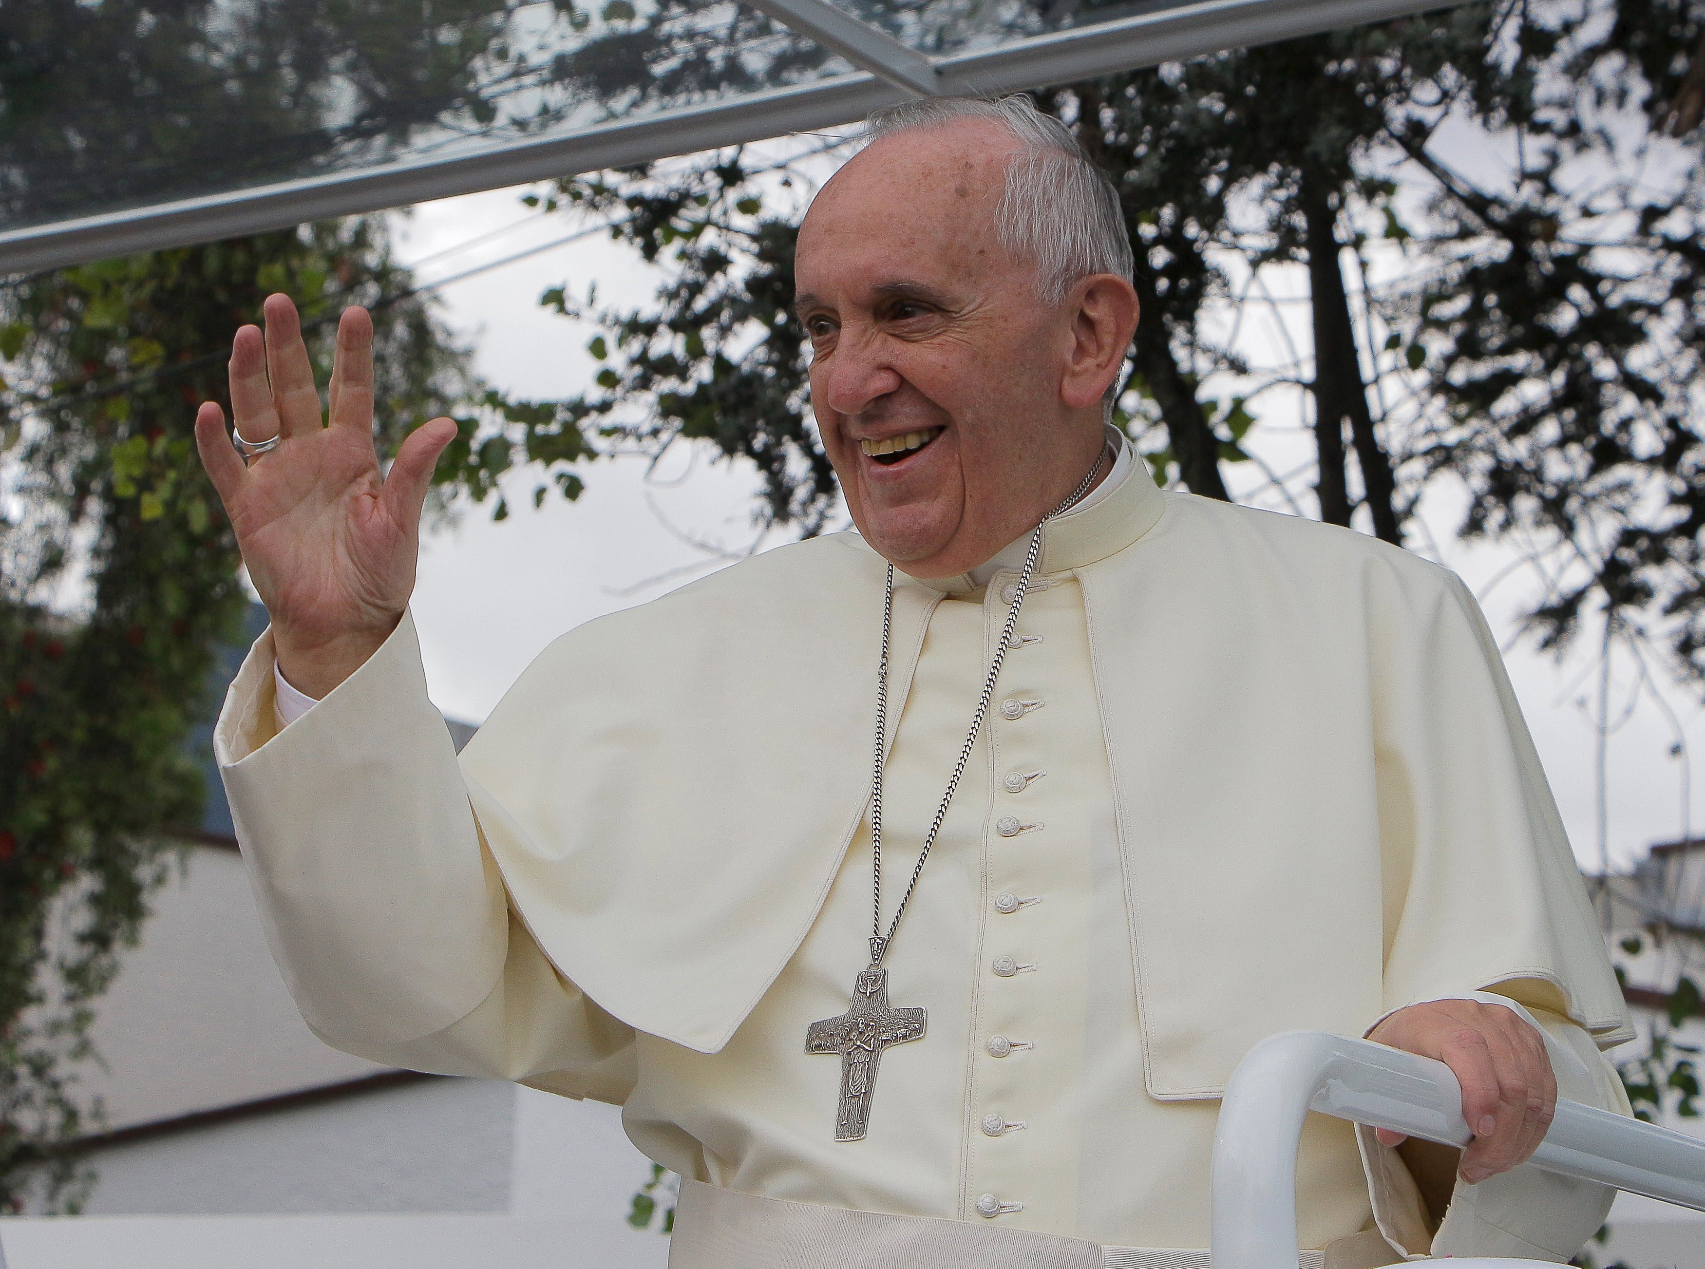
[[[460,766],[406,609],[454,430],[382,479],[365,314],[322,428],[273,297],[247,467],[198,438],[273,616],[217,742],[309,1025],[619,1102],[687,1269],[1205,1264],[1238,1058],[1371,1034],[1477,1139],[1311,1122],[1304,1264],[1574,1254],[1608,1194],[1517,1165],[1558,1085],[1625,1109],[1627,1030],[1494,643],[1422,559],[1154,486],[1105,425],[1130,269],[1025,101],[871,119],[796,259],[858,534],[566,634]]]

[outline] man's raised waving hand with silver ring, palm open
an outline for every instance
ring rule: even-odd
[[[319,698],[372,657],[402,617],[414,590],[421,507],[455,423],[435,418],[414,430],[380,478],[372,317],[365,309],[343,312],[331,426],[321,426],[295,305],[269,295],[263,312],[264,336],[244,326],[232,341],[230,404],[244,438],[283,440],[246,469],[225,413],[208,401],[196,414],[196,449],[271,614],[278,669]]]

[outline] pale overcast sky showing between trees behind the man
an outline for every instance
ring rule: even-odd
[[[426,259],[493,230],[488,242],[431,259],[423,280],[501,259],[566,235],[561,218],[532,217],[518,189],[423,205],[399,218],[401,256]],[[515,229],[506,229],[518,225]],[[588,382],[588,327],[539,307],[547,287],[568,281],[583,292],[598,283],[602,298],[644,293],[646,273],[602,237],[583,239],[445,287],[443,317],[477,350],[477,368],[493,384],[523,397],[566,396]],[[1299,420],[1291,420],[1294,428]],[[1269,437],[1258,433],[1269,430]],[[1262,413],[1255,438],[1284,455],[1298,435],[1286,420]],[[512,515],[489,519],[491,503],[469,505],[454,527],[428,536],[421,556],[414,616],[426,674],[438,706],[481,720],[527,662],[559,633],[604,612],[655,599],[720,566],[694,542],[745,549],[754,537],[747,472],[682,452],[660,471],[634,461],[597,462],[583,471],[587,493],[576,503],[552,498],[532,510],[530,474],[520,474]],[[1313,510],[1311,503],[1308,505]],[[1521,578],[1487,585],[1511,556],[1492,548],[1465,549],[1449,541],[1451,508],[1439,500],[1429,522],[1444,563],[1456,568],[1482,600],[1500,640],[1514,633]],[[1599,851],[1596,732],[1587,706],[1598,675],[1586,655],[1557,665],[1529,646],[1507,655],[1511,679],[1526,711],[1575,853],[1589,866]],[[1628,866],[1654,841],[1681,836],[1681,764],[1671,756],[1676,732],[1664,710],[1635,699],[1630,667],[1613,681],[1608,759],[1608,844],[1613,865]],[[1695,692],[1669,686],[1669,710],[1690,740],[1705,740]],[[1630,701],[1635,701],[1628,706]],[[1627,708],[1625,708],[1627,706]],[[968,706],[967,706],[968,708]],[[1700,750],[1705,754],[1705,749]],[[1695,762],[1695,768],[1705,762]],[[1695,790],[1705,778],[1695,771]],[[1696,802],[1696,798],[1695,798]]]

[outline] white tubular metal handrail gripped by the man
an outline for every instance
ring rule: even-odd
[[[1296,1269],[1296,1151],[1309,1110],[1465,1146],[1444,1063],[1323,1032],[1282,1032],[1238,1063],[1214,1134],[1214,1269]],[[1705,1211],[1705,1141],[1560,1100],[1529,1163]]]

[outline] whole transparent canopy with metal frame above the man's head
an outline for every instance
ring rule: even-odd
[[[0,273],[1458,0],[0,0]]]

